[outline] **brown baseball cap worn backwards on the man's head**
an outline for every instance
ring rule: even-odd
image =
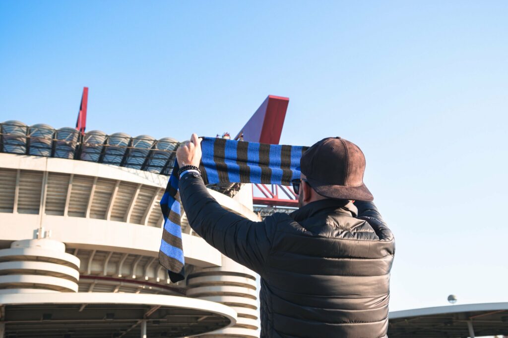
[[[327,137],[302,155],[300,170],[316,193],[335,199],[372,201],[363,183],[365,156],[358,145]]]

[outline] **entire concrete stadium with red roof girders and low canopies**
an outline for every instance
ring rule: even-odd
[[[237,139],[278,143],[289,100],[269,96]],[[158,264],[160,200],[179,142],[76,128],[0,124],[0,338],[258,337],[257,275],[182,216],[185,280]],[[291,211],[287,187],[209,186],[252,220]],[[280,193],[280,196],[279,196]],[[507,303],[390,313],[391,337],[506,334]],[[474,323],[474,327],[473,327]]]

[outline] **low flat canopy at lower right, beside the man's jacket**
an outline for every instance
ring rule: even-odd
[[[508,335],[508,303],[450,305],[390,312],[388,336],[437,338]]]

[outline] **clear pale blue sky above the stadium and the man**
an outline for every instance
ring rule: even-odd
[[[357,143],[391,310],[508,301],[508,2],[0,2],[0,121],[186,139],[290,97],[281,143]]]

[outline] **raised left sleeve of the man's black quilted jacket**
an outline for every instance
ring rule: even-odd
[[[198,174],[185,174],[179,191],[190,227],[221,253],[261,274],[271,248],[273,218],[255,222],[224,209]]]

